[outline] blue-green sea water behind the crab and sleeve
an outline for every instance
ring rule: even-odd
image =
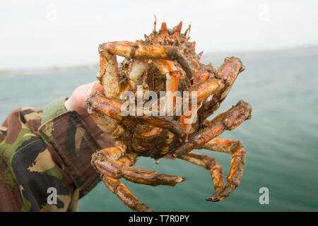
[[[222,60],[213,61],[213,65],[220,66]],[[239,100],[253,107],[251,120],[220,136],[245,145],[247,162],[240,186],[219,203],[207,202],[204,199],[213,193],[213,184],[206,169],[182,160],[164,159],[155,165],[152,159],[141,157],[136,167],[188,178],[175,187],[123,180],[141,202],[158,211],[318,210],[318,55],[242,61],[246,70],[217,112]],[[95,81],[95,73],[0,77],[0,121],[16,107],[44,107],[58,97],[71,95],[78,85]],[[230,155],[200,152],[216,157],[225,173],[229,172]],[[268,205],[259,203],[261,187],[269,189]],[[78,211],[129,210],[102,183],[78,203]]]

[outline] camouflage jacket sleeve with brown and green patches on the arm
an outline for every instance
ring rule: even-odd
[[[0,127],[0,211],[75,211],[100,181],[90,165],[100,146],[63,102],[15,109]]]

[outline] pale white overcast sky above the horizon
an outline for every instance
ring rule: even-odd
[[[143,38],[163,21],[197,51],[280,49],[318,44],[318,1],[0,2],[0,70],[98,63],[98,44]]]

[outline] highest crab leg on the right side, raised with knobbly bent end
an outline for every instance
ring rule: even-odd
[[[220,103],[223,102],[225,97],[230,92],[232,88],[232,84],[237,78],[238,74],[245,70],[245,66],[242,64],[242,61],[237,57],[225,58],[224,63],[220,66],[216,72],[216,78],[223,80],[225,86],[218,90],[213,95],[211,100],[206,100],[202,107],[199,109],[199,118],[200,121],[204,121],[207,117],[209,117],[213,112],[215,112],[218,107],[220,107]]]

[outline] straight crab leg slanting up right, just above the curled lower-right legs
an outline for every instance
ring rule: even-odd
[[[250,119],[251,112],[252,107],[247,102],[240,100],[237,105],[204,124],[206,128],[201,129],[189,142],[174,150],[174,155],[185,155],[193,149],[201,149],[205,143],[219,136],[223,131],[235,129],[243,121]]]

